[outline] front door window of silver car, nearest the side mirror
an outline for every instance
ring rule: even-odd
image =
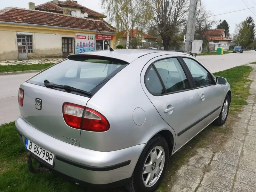
[[[188,69],[193,77],[196,87],[207,86],[213,84],[211,74],[206,71],[199,63],[195,60],[183,58]]]

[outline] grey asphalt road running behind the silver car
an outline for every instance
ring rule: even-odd
[[[212,73],[256,61],[255,51],[225,55],[197,56]],[[18,90],[20,84],[36,73],[0,76],[0,125],[14,121],[20,115]]]

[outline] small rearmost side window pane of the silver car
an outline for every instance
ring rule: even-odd
[[[156,71],[152,65],[150,66],[150,68],[148,68],[146,72],[145,85],[148,91],[154,95],[164,94],[164,89],[161,81],[159,80],[159,77],[157,76]]]

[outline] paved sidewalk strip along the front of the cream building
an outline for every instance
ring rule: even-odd
[[[5,65],[33,65],[44,63],[56,63],[63,59],[38,59],[38,60],[5,60],[0,61],[0,66]]]

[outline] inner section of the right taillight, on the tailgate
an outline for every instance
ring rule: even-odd
[[[81,105],[64,103],[62,111],[66,124],[68,124],[70,127],[80,129],[84,108],[85,107]]]

